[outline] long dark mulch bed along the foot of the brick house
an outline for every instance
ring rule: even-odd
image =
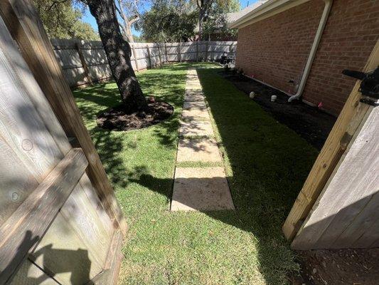
[[[252,100],[271,113],[279,123],[287,125],[311,145],[321,150],[336,121],[335,117],[319,108],[306,105],[301,100],[288,103],[287,94],[245,76],[225,71],[220,71],[219,74],[247,95],[254,91],[256,96]],[[271,95],[277,95],[275,102],[271,102]]]

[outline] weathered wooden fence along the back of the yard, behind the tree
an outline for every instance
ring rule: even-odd
[[[71,87],[111,77],[101,41],[52,39],[51,43]],[[224,54],[235,54],[237,42],[130,43],[130,46],[133,69],[141,71],[169,62],[216,61]]]

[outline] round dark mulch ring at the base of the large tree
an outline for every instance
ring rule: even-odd
[[[106,130],[138,130],[166,120],[173,112],[174,107],[162,101],[148,103],[148,110],[136,113],[126,113],[124,105],[118,105],[98,115],[97,125]]]

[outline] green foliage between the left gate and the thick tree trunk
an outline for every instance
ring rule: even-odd
[[[73,1],[33,0],[50,38],[99,40],[99,35],[82,19],[83,5]],[[82,8],[82,9],[80,9]]]

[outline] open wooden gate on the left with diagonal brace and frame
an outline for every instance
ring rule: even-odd
[[[118,204],[67,83],[44,76],[57,63],[38,65],[50,58],[38,46],[44,31],[18,38],[33,33],[33,17],[17,15],[32,7],[10,2],[0,4],[0,284],[114,284],[125,229]]]

